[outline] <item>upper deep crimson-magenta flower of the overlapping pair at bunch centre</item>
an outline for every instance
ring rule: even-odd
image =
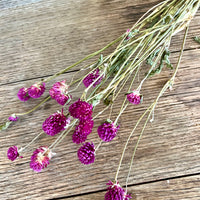
[[[93,106],[91,104],[79,99],[69,107],[69,113],[74,118],[85,120],[91,118],[92,109]]]

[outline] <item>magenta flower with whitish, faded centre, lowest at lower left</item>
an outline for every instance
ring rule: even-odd
[[[41,146],[33,152],[31,156],[30,168],[36,172],[41,172],[42,169],[49,165],[49,160],[53,153],[47,146]]]

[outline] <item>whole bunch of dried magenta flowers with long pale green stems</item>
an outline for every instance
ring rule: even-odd
[[[89,72],[83,77],[79,77],[77,80],[71,80],[69,85],[66,84],[66,80],[56,82],[49,90],[49,97],[43,100],[38,106],[31,111],[22,114],[12,114],[6,123],[1,125],[1,130],[8,128],[8,126],[17,121],[19,116],[29,114],[33,110],[37,109],[41,104],[45,103],[48,99],[54,99],[58,104],[62,106],[60,112],[53,113],[50,115],[42,124],[43,131],[37,135],[29,144],[24,148],[18,149],[17,146],[12,146],[8,149],[7,157],[11,161],[17,158],[22,158],[22,152],[32,144],[43,132],[49,136],[60,134],[55,142],[47,146],[41,146],[37,148],[30,161],[30,168],[36,172],[40,172],[42,169],[49,165],[49,161],[55,153],[52,150],[65,138],[65,136],[74,127],[72,135],[72,141],[76,144],[82,144],[77,151],[78,159],[81,163],[88,165],[95,161],[95,154],[97,149],[100,147],[102,142],[112,141],[120,128],[118,119],[125,111],[128,104],[138,105],[142,103],[142,95],[140,91],[143,83],[155,74],[161,72],[164,64],[168,68],[172,68],[169,61],[169,50],[171,38],[179,31],[186,28],[186,32],[181,47],[180,56],[177,62],[177,66],[174,70],[172,77],[163,86],[159,95],[155,101],[147,108],[144,114],[139,118],[137,124],[133,128],[127,138],[127,142],[124,146],[122,156],[119,162],[117,173],[115,176],[115,182],[108,182],[107,192],[105,194],[106,200],[128,200],[131,198],[130,194],[127,194],[128,178],[131,172],[133,159],[139,141],[142,137],[144,128],[147,121],[153,115],[154,109],[158,103],[159,98],[162,94],[170,87],[172,87],[175,75],[180,64],[180,59],[183,53],[183,48],[187,36],[189,22],[194,17],[196,11],[200,6],[200,0],[166,0],[150,9],[138,22],[125,34],[117,38],[115,41],[108,44],[103,49],[90,54],[86,58],[78,61],[74,65],[67,67],[66,69],[58,72],[52,77],[49,77],[41,82],[33,84],[29,88],[21,88],[18,92],[18,98],[21,101],[28,101],[30,98],[39,98],[45,92],[45,85],[50,80],[63,74],[72,67],[80,64],[81,62],[90,59],[100,54],[99,60],[84,68]],[[147,15],[147,16],[146,16]],[[102,51],[119,43],[117,48],[110,55],[103,57]],[[139,73],[139,69],[146,62],[150,65],[147,69],[145,77],[142,79],[136,89],[133,88],[133,83],[136,75]],[[83,69],[80,69],[83,70]],[[79,70],[79,71],[80,71]],[[124,86],[128,81],[129,89],[126,91],[124,102],[121,106],[120,112],[116,119],[105,119],[104,123],[99,125],[97,133],[99,138],[102,140],[97,147],[93,142],[86,142],[88,135],[92,132],[94,126],[94,119],[99,116],[106,109],[111,108],[115,103],[120,93],[123,93]],[[86,89],[79,99],[74,100],[70,94],[69,88],[76,85],[77,89],[80,85],[84,84]],[[104,102],[106,107],[96,116],[93,116],[94,108]],[[67,112],[64,113],[64,109],[67,108]],[[131,158],[131,164],[129,166],[129,173],[126,181],[126,190],[124,190],[117,180],[120,166],[129,143],[136,127],[141,120],[147,115],[146,122],[139,135],[138,142],[133,151]]]

